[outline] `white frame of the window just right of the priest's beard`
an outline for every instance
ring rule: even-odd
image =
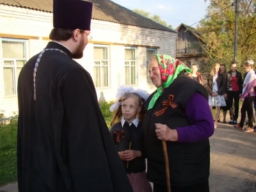
[[[94,59],[94,48],[95,47],[104,47],[107,49],[107,60],[95,60]],[[95,61],[99,61],[100,65],[95,65]],[[102,65],[101,61],[107,61],[107,65]],[[96,86],[95,82],[94,82],[94,67],[100,67],[100,72],[101,72],[101,68],[102,67],[106,67],[108,68],[108,77],[107,77],[107,84],[108,86],[102,86],[102,77],[100,74],[100,86]],[[102,88],[110,88],[110,63],[109,63],[109,45],[101,45],[101,44],[93,44],[93,84],[95,86],[96,89],[102,89]]]

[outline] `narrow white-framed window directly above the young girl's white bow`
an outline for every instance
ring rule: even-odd
[[[125,84],[136,85],[136,49],[125,48]]]

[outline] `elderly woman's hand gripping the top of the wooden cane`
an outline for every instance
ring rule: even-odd
[[[156,136],[159,140],[164,141],[178,141],[179,136],[176,129],[170,129],[167,125],[155,124],[156,125]]]

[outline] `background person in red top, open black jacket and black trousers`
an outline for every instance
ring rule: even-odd
[[[242,74],[236,70],[236,63],[230,64],[230,83],[228,84],[228,106],[230,114],[230,122],[228,124],[237,124],[238,111],[239,111],[239,95],[243,91],[243,78]],[[234,108],[233,108],[234,101]]]

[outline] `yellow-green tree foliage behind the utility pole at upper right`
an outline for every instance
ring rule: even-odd
[[[198,31],[202,33],[202,45],[209,61],[229,65],[234,58],[235,6],[231,0],[208,0],[209,19],[200,22]],[[223,11],[221,11],[223,10]],[[239,1],[237,63],[256,59],[256,0]],[[220,12],[221,11],[221,12]],[[217,13],[220,12],[220,13]],[[214,15],[214,13],[217,13]]]

